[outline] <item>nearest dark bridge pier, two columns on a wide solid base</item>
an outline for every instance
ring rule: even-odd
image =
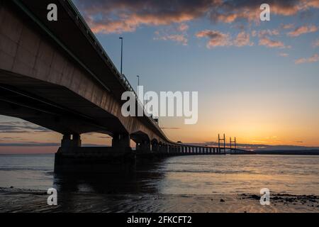
[[[63,135],[55,153],[55,172],[126,172],[135,165],[130,136],[113,137],[112,147],[81,147],[79,134]]]

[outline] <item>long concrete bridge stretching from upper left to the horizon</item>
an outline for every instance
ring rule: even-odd
[[[47,20],[47,5],[58,20]],[[148,116],[124,117],[121,94],[133,87],[120,74],[69,0],[0,0],[0,114],[63,135],[56,159],[96,154],[221,154],[169,140]],[[137,102],[137,108],[143,108]],[[112,146],[86,148],[82,133],[106,133]],[[136,151],[130,148],[136,143]],[[247,153],[231,148],[231,153]]]

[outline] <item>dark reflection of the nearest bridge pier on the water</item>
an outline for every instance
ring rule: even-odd
[[[164,178],[159,168],[164,160],[138,162],[124,172],[104,167],[101,172],[83,172],[74,166],[74,172],[55,173],[53,184],[58,192],[96,192],[99,194],[158,193],[158,183]]]

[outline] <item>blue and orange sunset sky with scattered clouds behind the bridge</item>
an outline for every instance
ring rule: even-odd
[[[74,0],[118,69],[147,91],[198,92],[198,122],[160,117],[171,140],[319,146],[319,0]],[[260,21],[259,6],[270,6]],[[55,152],[62,135],[0,116],[0,153]],[[32,135],[32,136],[30,136]],[[82,142],[108,145],[108,135]]]

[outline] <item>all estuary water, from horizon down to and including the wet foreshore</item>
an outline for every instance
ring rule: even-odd
[[[54,155],[0,155],[1,212],[319,212],[319,156],[194,155],[125,174],[55,174]],[[46,191],[57,189],[57,206]],[[259,204],[260,189],[270,206]]]

